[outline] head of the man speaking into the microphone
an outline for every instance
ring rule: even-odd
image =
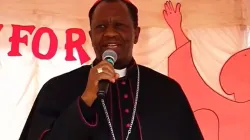
[[[101,0],[90,9],[89,35],[98,61],[107,49],[118,55],[115,68],[123,68],[131,61],[140,33],[137,13],[137,8],[125,0]]]

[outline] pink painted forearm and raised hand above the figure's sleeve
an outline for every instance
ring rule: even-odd
[[[182,29],[182,15],[180,10],[180,3],[177,3],[175,7],[171,1],[166,1],[164,4],[163,16],[174,34],[176,49],[190,41]]]

